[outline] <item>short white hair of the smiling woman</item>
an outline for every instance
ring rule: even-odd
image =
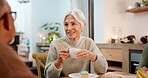
[[[68,15],[72,15],[81,25],[82,27],[84,28],[85,25],[86,25],[86,18],[83,14],[83,12],[79,9],[72,9],[70,10],[66,15],[65,15],[65,18],[64,18],[64,21],[66,19],[66,17]]]

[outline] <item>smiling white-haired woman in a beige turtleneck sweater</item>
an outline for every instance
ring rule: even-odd
[[[89,71],[105,73],[107,61],[92,39],[81,36],[86,25],[82,11],[69,11],[64,19],[66,36],[52,41],[46,61],[45,74],[48,78],[65,77],[71,73]],[[70,57],[69,48],[80,49],[75,58]]]

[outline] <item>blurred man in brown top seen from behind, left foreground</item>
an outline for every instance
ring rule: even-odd
[[[9,46],[15,35],[11,13],[6,0],[0,0],[0,78],[36,78]]]

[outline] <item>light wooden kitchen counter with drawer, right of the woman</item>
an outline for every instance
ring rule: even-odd
[[[109,66],[116,71],[129,72],[130,50],[143,50],[146,44],[117,44],[117,43],[96,43],[107,61],[120,62],[120,67]]]

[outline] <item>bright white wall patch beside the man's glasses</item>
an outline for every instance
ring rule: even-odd
[[[27,28],[30,26],[31,17],[31,2],[24,4],[19,3],[17,0],[7,0],[11,10],[17,12],[17,19],[14,21],[17,32],[28,31]]]

